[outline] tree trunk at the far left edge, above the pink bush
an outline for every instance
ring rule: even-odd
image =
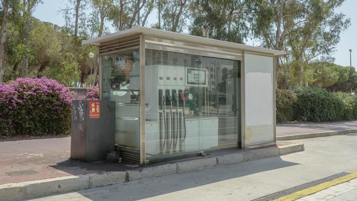
[[[5,64],[6,64],[6,34],[7,34],[7,18],[9,16],[9,2],[2,0],[2,9],[4,15],[2,16],[1,38],[0,38],[0,83],[4,78]]]

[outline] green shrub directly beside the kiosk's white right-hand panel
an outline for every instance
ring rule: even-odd
[[[291,90],[276,90],[276,121],[286,122],[295,120],[294,106],[297,102],[296,94]]]

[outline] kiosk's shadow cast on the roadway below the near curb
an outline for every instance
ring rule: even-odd
[[[181,174],[130,181],[118,185],[92,188],[77,191],[77,193],[80,194],[78,196],[80,196],[81,199],[87,198],[89,200],[94,201],[141,200],[145,198],[164,195],[171,192],[182,191],[189,188],[200,187],[215,182],[230,180],[233,178],[244,177],[259,172],[266,172],[278,168],[295,165],[300,164],[283,161],[280,157],[272,157],[265,158],[262,160],[242,162],[233,165],[207,168],[203,170],[186,172]],[[279,175],[276,175],[276,177],[279,177]],[[145,188],[142,188],[142,186],[145,186]],[[240,188],[240,186],[232,186],[232,188]],[[63,194],[66,193],[62,193],[62,195]],[[60,197],[57,197],[57,199],[58,198]],[[72,198],[76,199],[79,197]]]

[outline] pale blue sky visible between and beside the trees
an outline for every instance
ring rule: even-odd
[[[59,26],[63,26],[65,24],[63,15],[57,14],[57,11],[60,8],[65,8],[65,4],[67,0],[43,0],[43,4],[40,4],[36,7],[36,10],[33,13],[35,18],[40,19],[41,21],[49,21],[51,23],[57,24]],[[347,18],[351,19],[351,26],[341,33],[341,40],[336,45],[336,52],[332,54],[335,57],[335,63],[342,66],[350,65],[350,52],[349,49],[352,49],[352,66],[357,64],[357,0],[346,0],[341,7],[336,9],[337,13],[342,12],[346,15]],[[156,23],[156,13],[157,10],[154,10],[148,17],[147,21],[149,24]],[[109,27],[111,33],[114,33],[115,30],[110,24],[107,22],[105,24]],[[247,45],[257,45],[256,41],[248,40],[246,42]],[[356,65],[357,66],[357,65]]]

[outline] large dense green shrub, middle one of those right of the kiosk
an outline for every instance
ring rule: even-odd
[[[296,119],[299,121],[325,122],[343,120],[342,99],[326,89],[317,87],[297,87]]]

